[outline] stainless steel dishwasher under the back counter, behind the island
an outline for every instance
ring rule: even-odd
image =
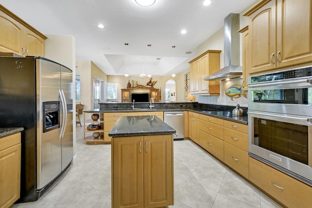
[[[165,111],[164,122],[176,130],[174,140],[184,139],[184,111]]]

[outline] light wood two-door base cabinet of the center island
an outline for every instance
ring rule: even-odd
[[[174,204],[173,136],[112,139],[112,208]]]

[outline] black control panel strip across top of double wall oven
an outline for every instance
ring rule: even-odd
[[[254,77],[251,77],[250,82],[262,83],[262,82],[272,82],[272,81],[278,81],[278,80],[288,80],[288,79],[311,77],[311,76],[312,76],[312,66],[309,66],[309,67],[289,69],[285,71],[254,76]]]

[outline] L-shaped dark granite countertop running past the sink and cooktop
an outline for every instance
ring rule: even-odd
[[[233,122],[237,122],[237,123],[241,123],[241,124],[248,124],[248,116],[247,113],[245,113],[243,116],[232,116],[232,114],[229,114],[230,116],[225,116],[226,114],[223,115],[218,115],[218,114],[214,114],[213,111],[216,111],[217,109],[213,109],[213,111],[210,111],[210,109],[205,109],[205,108],[185,108],[185,109],[176,109],[176,108],[139,108],[139,109],[135,109],[133,110],[132,108],[107,108],[107,109],[93,109],[93,110],[83,110],[83,112],[86,113],[99,113],[99,112],[103,112],[103,113],[109,113],[109,112],[141,112],[141,111],[184,111],[184,110],[189,110],[195,113],[200,113],[203,115],[207,115],[207,116],[213,116],[213,117],[217,117],[220,119],[224,119],[224,120],[228,120],[228,121],[233,121]],[[226,112],[232,112],[231,110],[228,110]]]

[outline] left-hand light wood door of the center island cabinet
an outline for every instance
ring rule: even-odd
[[[143,137],[112,139],[112,208],[143,207]]]

